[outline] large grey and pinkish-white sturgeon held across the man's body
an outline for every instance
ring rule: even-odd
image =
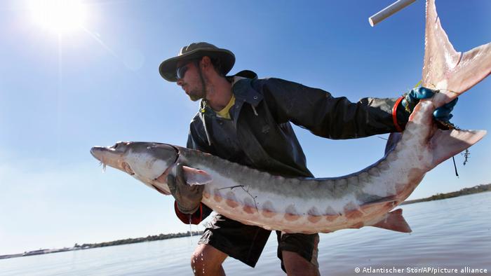
[[[485,130],[439,130],[433,111],[491,72],[491,43],[457,53],[426,3],[422,85],[440,90],[419,102],[403,134],[391,134],[384,158],[344,177],[285,178],[180,146],[119,142],[90,151],[105,165],[127,172],[168,195],[166,177],[184,163],[190,185],[206,185],[202,202],[230,219],[287,233],[328,233],[376,226],[410,232],[396,209],[424,174],[478,142]]]

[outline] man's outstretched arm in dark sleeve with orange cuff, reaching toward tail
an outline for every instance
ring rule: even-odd
[[[278,78],[264,80],[262,90],[278,123],[291,121],[314,134],[330,139],[351,139],[397,132],[407,116],[397,99],[363,98],[350,102],[329,92]]]

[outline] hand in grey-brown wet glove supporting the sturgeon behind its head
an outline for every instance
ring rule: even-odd
[[[177,202],[177,209],[184,214],[194,214],[203,198],[204,185],[189,186],[184,179],[182,164],[177,163],[176,175],[168,174],[167,185]]]

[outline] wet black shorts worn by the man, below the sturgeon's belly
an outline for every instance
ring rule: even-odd
[[[271,230],[265,230],[258,226],[248,226],[221,214],[216,214],[213,221],[205,229],[198,244],[210,244],[224,254],[255,267],[269,234],[271,234]],[[295,252],[318,266],[318,234],[287,234],[276,231],[276,235],[278,238],[277,254],[281,260],[283,271],[285,271],[285,267],[281,255],[282,251]]]

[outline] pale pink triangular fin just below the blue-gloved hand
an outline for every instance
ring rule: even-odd
[[[429,142],[433,151],[431,168],[476,144],[485,134],[485,130],[436,130]]]

